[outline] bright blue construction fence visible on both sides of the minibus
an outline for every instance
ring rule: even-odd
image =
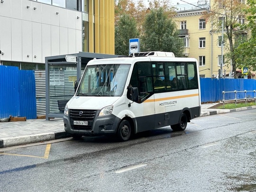
[[[222,91],[253,91],[253,79],[212,79],[200,78],[201,102],[222,101]],[[253,98],[253,92],[247,92]],[[244,92],[237,93],[237,99],[245,98]],[[225,100],[235,99],[234,93],[226,93]],[[0,65],[0,119],[26,117],[37,119],[36,80],[32,70]]]

